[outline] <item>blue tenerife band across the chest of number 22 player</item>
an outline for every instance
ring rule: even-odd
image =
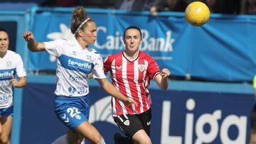
[[[59,60],[62,67],[85,74],[90,74],[93,65],[92,62],[69,57],[67,55],[60,55]]]

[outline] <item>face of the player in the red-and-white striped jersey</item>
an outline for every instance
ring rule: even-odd
[[[137,52],[139,45],[142,43],[142,37],[137,29],[128,29],[124,33],[125,50],[129,52]]]

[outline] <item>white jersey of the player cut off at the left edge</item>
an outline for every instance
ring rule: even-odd
[[[3,58],[0,57],[0,109],[13,105],[11,76],[26,77],[23,61],[18,53],[7,50]]]

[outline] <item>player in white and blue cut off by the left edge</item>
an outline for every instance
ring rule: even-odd
[[[9,34],[0,28],[0,143],[10,144],[13,120],[12,87],[26,86],[26,71],[18,53],[8,50]],[[18,75],[18,80],[15,75]]]

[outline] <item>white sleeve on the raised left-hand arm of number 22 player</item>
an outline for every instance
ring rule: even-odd
[[[43,42],[46,45],[46,52],[55,57],[60,56],[60,48],[65,40],[52,40],[49,42]]]

